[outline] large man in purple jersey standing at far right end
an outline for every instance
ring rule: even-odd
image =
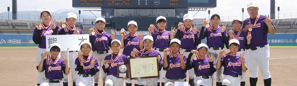
[[[275,26],[268,16],[258,14],[259,8],[256,2],[247,4],[247,12],[250,18],[243,22],[243,31],[251,32],[251,47],[249,48],[249,83],[256,86],[258,80],[258,67],[264,79],[264,85],[271,85],[271,75],[269,72],[270,50],[267,40],[267,33],[274,34]]]

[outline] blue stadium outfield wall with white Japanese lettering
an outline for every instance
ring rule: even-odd
[[[116,39],[121,39],[116,35]],[[297,34],[268,34],[269,45],[272,46],[297,46]],[[38,46],[32,40],[32,34],[0,34],[0,46]],[[206,38],[202,39],[206,44]]]

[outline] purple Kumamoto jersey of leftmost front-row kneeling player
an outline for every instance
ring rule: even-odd
[[[56,60],[57,63],[56,64],[50,64],[48,65],[47,64],[47,59],[44,59],[43,60],[43,64],[45,66],[45,69],[43,69],[43,71],[45,70],[45,77],[47,79],[50,79],[50,80],[61,80],[63,77],[63,70],[65,70],[65,63],[64,63],[64,60],[62,59],[52,59],[50,58],[53,62],[55,62]],[[37,70],[38,70],[38,66],[37,66]]]

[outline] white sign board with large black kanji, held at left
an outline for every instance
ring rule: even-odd
[[[61,45],[61,51],[79,51],[80,44],[83,41],[89,42],[89,34],[76,35],[46,35],[46,51],[50,51],[50,44],[58,43]]]

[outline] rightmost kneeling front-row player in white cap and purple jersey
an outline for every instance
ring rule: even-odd
[[[228,53],[226,53],[225,50],[220,51],[219,59],[221,60],[217,61],[216,68],[220,69],[221,66],[225,67],[223,72],[225,77],[223,78],[222,86],[240,86],[240,76],[242,72],[247,71],[244,54],[240,54],[240,56],[237,55],[239,41],[236,39],[229,41],[229,49],[230,52]],[[223,56],[223,52],[226,53],[226,56]]]

